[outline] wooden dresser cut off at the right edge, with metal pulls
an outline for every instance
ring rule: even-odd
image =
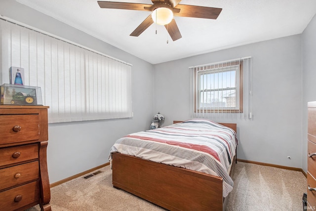
[[[308,102],[307,143],[307,203],[309,210],[316,208],[316,101]]]

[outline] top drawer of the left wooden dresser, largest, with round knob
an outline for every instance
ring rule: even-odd
[[[38,140],[40,117],[38,114],[0,115],[0,144]]]

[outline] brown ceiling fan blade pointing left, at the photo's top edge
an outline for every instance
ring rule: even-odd
[[[101,8],[131,9],[131,10],[142,10],[142,11],[151,11],[151,10],[145,9],[144,7],[153,6],[152,4],[126,3],[126,2],[113,2],[113,1],[98,1],[98,4]]]

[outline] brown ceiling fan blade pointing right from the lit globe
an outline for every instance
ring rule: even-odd
[[[180,12],[173,13],[174,16],[208,19],[217,19],[222,11],[222,8],[194,6],[186,4],[178,4],[175,8],[180,9]]]

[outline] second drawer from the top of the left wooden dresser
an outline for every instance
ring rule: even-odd
[[[0,167],[39,158],[38,144],[0,149]]]

